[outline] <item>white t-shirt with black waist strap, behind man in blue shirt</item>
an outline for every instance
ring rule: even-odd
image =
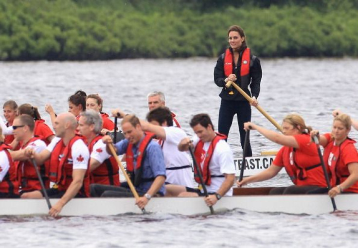
[[[193,170],[188,154],[178,150],[179,142],[185,138],[186,133],[179,127],[163,126],[165,131],[165,141],[162,145],[164,163],[166,170],[166,182],[171,184],[183,185],[193,188]],[[168,170],[168,168],[190,165],[188,168]]]

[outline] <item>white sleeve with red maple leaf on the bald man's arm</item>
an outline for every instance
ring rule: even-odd
[[[71,148],[73,170],[88,168],[88,161],[90,159],[90,151],[83,140],[77,140],[72,144]]]

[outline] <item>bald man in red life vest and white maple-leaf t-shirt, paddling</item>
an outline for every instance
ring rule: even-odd
[[[40,153],[26,149],[37,164],[50,159],[49,176],[55,182],[47,190],[50,198],[60,198],[49,211],[57,216],[73,197],[89,196],[89,159],[90,152],[82,137],[76,136],[77,120],[71,113],[59,114],[54,121],[56,138]],[[24,198],[42,198],[41,191],[24,193]]]

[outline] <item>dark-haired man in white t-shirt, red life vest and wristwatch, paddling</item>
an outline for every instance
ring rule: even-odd
[[[225,141],[225,135],[215,133],[214,125],[207,114],[195,115],[190,126],[195,134],[193,140],[184,138],[178,145],[180,151],[189,150],[194,147],[194,154],[197,164],[201,169],[206,184],[208,197],[205,202],[213,206],[222,196],[233,195],[233,183],[235,179],[235,165],[233,163],[233,152]],[[199,178],[195,178],[199,182]],[[199,196],[203,193],[196,189],[186,188],[179,196]]]

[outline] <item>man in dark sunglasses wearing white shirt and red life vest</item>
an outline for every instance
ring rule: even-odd
[[[35,121],[30,115],[20,115],[13,122],[14,138],[20,143],[18,151],[10,151],[11,157],[16,167],[16,174],[20,184],[20,195],[34,190],[41,190],[41,184],[37,177],[36,170],[32,162],[25,155],[25,149],[31,148],[36,153],[40,153],[46,148],[46,143],[39,137],[34,136]],[[41,174],[45,187],[49,187],[47,164],[37,164],[37,169]]]

